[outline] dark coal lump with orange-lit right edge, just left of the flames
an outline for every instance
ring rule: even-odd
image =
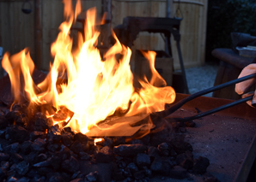
[[[45,132],[53,125],[52,119],[46,118],[46,115],[41,112],[36,113],[32,120],[32,122],[34,122],[35,131]]]

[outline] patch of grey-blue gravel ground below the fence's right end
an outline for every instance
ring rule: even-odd
[[[216,78],[217,69],[218,65],[207,63],[201,67],[186,68],[186,80],[190,94],[212,87]],[[204,96],[212,97],[212,92]]]

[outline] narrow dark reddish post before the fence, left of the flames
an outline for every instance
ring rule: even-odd
[[[42,40],[42,28],[41,28],[41,0],[34,0],[34,52],[35,52],[35,67],[41,68],[41,40]]]

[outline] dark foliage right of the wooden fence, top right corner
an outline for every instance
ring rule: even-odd
[[[231,47],[231,32],[256,36],[256,0],[209,0],[206,56]]]

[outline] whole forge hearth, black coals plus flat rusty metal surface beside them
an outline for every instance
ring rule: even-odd
[[[178,94],[176,102],[183,97]],[[223,103],[230,101],[198,97],[169,118]],[[241,104],[186,123],[194,127],[158,120],[167,125],[143,138],[104,138],[96,146],[94,138],[72,132],[70,127],[46,126],[48,131],[41,132],[26,130],[21,122],[15,126],[2,122],[1,180],[245,181],[255,158],[248,155],[255,152],[254,111]],[[1,117],[9,120],[3,113]]]

